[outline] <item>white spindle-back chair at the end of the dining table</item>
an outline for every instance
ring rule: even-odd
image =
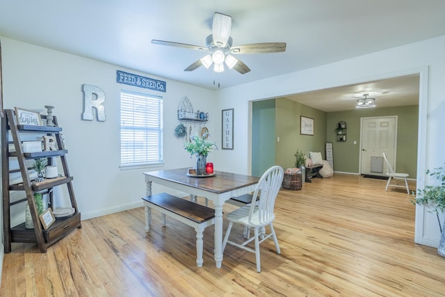
[[[275,243],[275,248],[277,248],[277,253],[281,254],[280,246],[278,245],[277,235],[273,229],[273,220],[275,220],[275,214],[273,213],[275,207],[275,200],[277,198],[278,191],[280,191],[284,177],[284,170],[280,166],[273,166],[266,170],[264,174],[259,179],[257,186],[255,187],[254,193],[252,195],[252,202],[250,205],[245,207],[240,207],[229,214],[227,214],[227,220],[229,220],[229,227],[227,227],[227,232],[225,233],[223,240],[223,251],[227,243],[243,250],[249,252],[254,252],[257,271],[261,272],[261,263],[259,256],[259,245],[270,236]],[[261,195],[259,193],[261,192]],[[259,200],[257,198],[259,197]],[[230,231],[234,223],[239,223],[245,227],[252,228],[254,230],[254,235],[243,243],[236,243],[234,241],[229,241]],[[266,234],[266,227],[270,228],[270,233]],[[260,240],[261,236],[261,240]],[[248,243],[254,241],[254,250],[246,246]]]

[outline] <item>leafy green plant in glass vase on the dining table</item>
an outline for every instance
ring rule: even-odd
[[[207,156],[209,156],[211,150],[218,150],[216,143],[206,140],[208,137],[209,134],[206,132],[201,137],[195,135],[190,142],[184,143],[184,150],[189,152],[191,156],[196,156],[196,175],[206,174]]]

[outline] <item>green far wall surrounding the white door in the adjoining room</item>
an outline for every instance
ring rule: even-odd
[[[360,119],[397,115],[397,172],[405,172],[416,178],[417,172],[417,131],[419,106],[398,106],[376,109],[362,109],[327,113],[327,142],[332,143],[334,170],[339,172],[359,172]],[[335,127],[339,121],[348,125],[346,142],[337,142]],[[357,144],[354,145],[354,141]]]

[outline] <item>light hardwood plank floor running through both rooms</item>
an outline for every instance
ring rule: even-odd
[[[261,273],[254,254],[234,246],[216,268],[213,227],[197,268],[195,230],[172,218],[161,227],[154,211],[145,234],[140,207],[85,220],[46,254],[13,243],[0,296],[444,296],[445,259],[414,243],[411,196],[385,192],[385,183],[335,175],[280,191],[274,227],[282,254],[264,241]],[[234,228],[231,238],[242,239]]]

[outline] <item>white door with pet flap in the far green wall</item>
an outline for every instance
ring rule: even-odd
[[[393,166],[396,163],[397,116],[362,118],[360,130],[360,173],[386,175],[382,153]],[[395,170],[395,168],[394,168]]]

